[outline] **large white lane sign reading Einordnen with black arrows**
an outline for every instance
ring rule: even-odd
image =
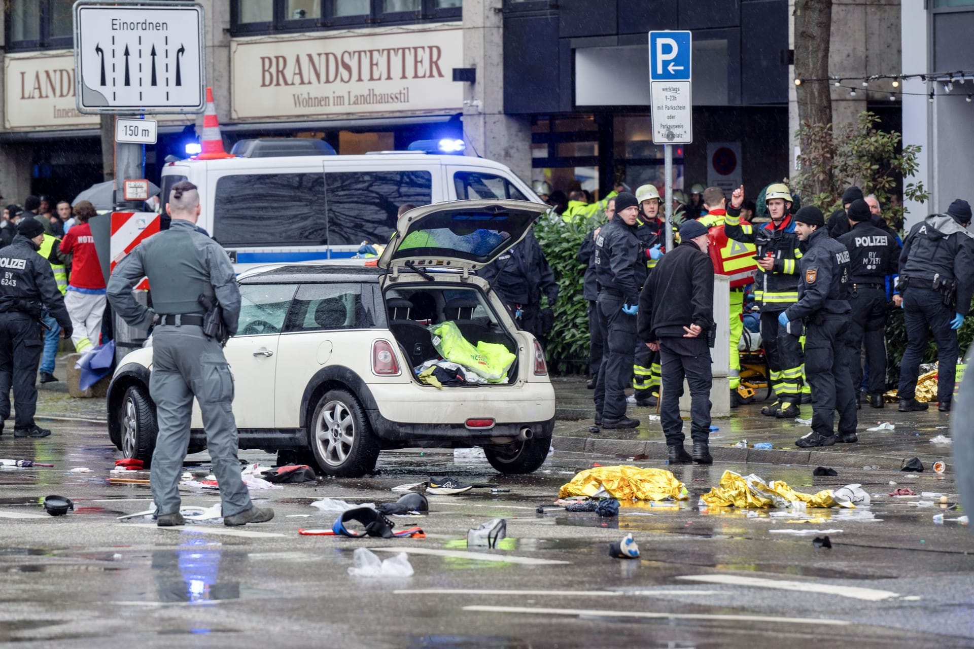
[[[205,52],[199,3],[78,2],[78,111],[200,113]]]

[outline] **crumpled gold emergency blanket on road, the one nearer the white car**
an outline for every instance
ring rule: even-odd
[[[559,498],[593,496],[600,487],[618,500],[686,500],[687,487],[665,469],[641,469],[638,466],[597,466],[576,474],[572,482],[562,485]]]

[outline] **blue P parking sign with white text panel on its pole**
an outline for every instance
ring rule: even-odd
[[[693,142],[693,34],[650,32],[653,142],[663,145],[666,249],[673,249],[673,144]]]

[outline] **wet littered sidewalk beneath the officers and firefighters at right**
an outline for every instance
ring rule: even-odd
[[[650,459],[665,459],[659,420],[654,409],[629,407],[628,415],[643,421],[639,428],[630,430],[602,430],[589,433],[595,415],[592,391],[585,388],[584,379],[551,379],[557,399],[557,421],[552,445],[555,451],[581,451],[609,456],[632,457],[646,454]],[[936,460],[944,460],[947,470],[953,470],[951,446],[931,444],[937,435],[950,437],[950,416],[937,411],[936,405],[925,413],[899,413],[895,404],[886,404],[882,410],[865,406],[859,411],[859,442],[836,444],[832,447],[802,450],[795,440],[810,428],[794,419],[775,419],[761,415],[768,402],[754,403],[731,411],[729,418],[715,418],[713,425],[720,430],[710,435],[710,453],[718,462],[759,462],[766,464],[793,464],[832,466],[846,468],[878,467],[898,470],[906,458],[918,457],[927,471]],[[811,406],[802,406],[802,418],[811,418]],[[866,428],[880,421],[889,421],[895,430],[876,433]],[[690,444],[690,422],[685,422],[684,433]],[[747,449],[733,446],[747,440]],[[759,442],[769,442],[773,449],[754,449]]]

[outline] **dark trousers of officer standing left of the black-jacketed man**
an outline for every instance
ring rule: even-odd
[[[624,300],[599,294],[600,324],[605,332],[605,351],[595,389],[595,411],[605,419],[625,416],[625,388],[632,377],[636,349],[636,316],[622,312]]]

